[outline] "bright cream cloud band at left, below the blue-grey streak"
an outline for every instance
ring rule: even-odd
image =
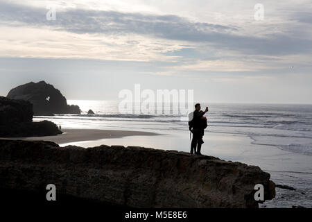
[[[0,29],[3,32],[0,56],[8,57],[174,61],[178,56],[165,56],[164,53],[186,47],[135,34],[90,35],[23,26],[0,26]]]

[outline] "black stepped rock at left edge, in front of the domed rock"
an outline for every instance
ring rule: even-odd
[[[40,137],[60,133],[58,126],[50,121],[33,122],[30,102],[0,96],[0,137]]]

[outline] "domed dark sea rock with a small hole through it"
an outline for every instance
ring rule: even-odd
[[[35,115],[80,114],[78,105],[67,105],[60,90],[44,81],[19,85],[11,89],[7,97],[31,102]]]

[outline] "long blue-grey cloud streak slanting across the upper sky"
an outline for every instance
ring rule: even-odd
[[[2,21],[44,26],[54,30],[78,34],[144,35],[148,37],[213,44],[216,49],[240,51],[248,54],[286,55],[309,53],[312,40],[286,33],[271,35],[241,35],[240,27],[192,22],[177,15],[144,15],[117,11],[73,9],[57,11],[55,21],[46,20],[47,10],[1,2]],[[306,22],[306,19],[304,20]],[[265,23],[264,23],[265,24]],[[13,23],[14,25],[14,23]],[[261,24],[258,24],[260,28]]]

